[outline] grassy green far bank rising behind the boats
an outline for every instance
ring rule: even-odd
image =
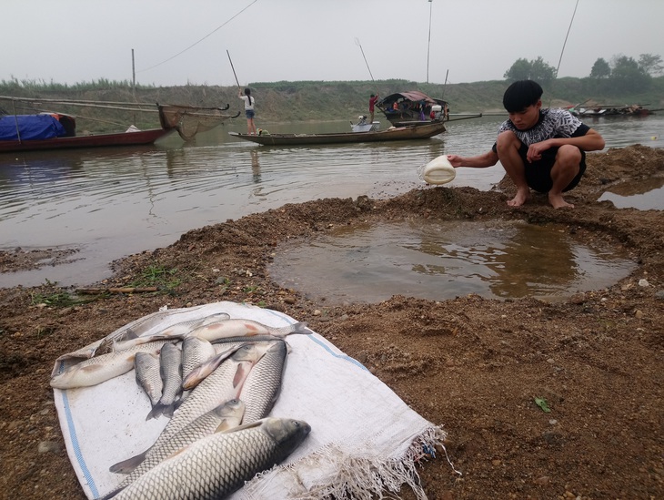
[[[431,97],[443,98],[449,102],[452,113],[501,112],[502,94],[507,87],[503,80],[462,83],[428,84],[407,80],[346,81],[346,82],[257,82],[249,85],[257,99],[257,118],[262,123],[298,120],[355,119],[367,113],[367,102],[372,92],[381,96],[400,90],[421,90]],[[592,99],[599,103],[641,104],[651,108],[664,108],[664,77],[652,79],[648,93],[621,95],[594,95],[589,78],[560,78],[545,87],[545,107],[573,105]],[[137,87],[134,91],[128,83],[98,82],[75,86],[57,84],[35,85],[30,82],[0,82],[0,96],[39,97],[49,99],[106,100],[118,102],[146,102],[185,104],[190,106],[216,107],[230,104],[229,112],[241,109],[236,87],[181,86],[181,87]],[[43,105],[35,108],[22,108],[16,111],[11,101],[0,99],[0,109],[7,113],[30,113],[59,111],[80,117],[79,130],[107,130],[113,127],[110,121],[135,123],[139,128],[154,127],[156,114],[136,117],[133,114],[108,110],[81,109]],[[109,115],[111,115],[109,117]],[[102,118],[105,121],[86,121],[83,117]]]

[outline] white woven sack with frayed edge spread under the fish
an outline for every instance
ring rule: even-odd
[[[282,312],[234,302],[170,312],[142,335],[214,312],[274,327],[296,322]],[[286,340],[291,350],[270,415],[304,420],[311,434],[284,464],[258,475],[231,498],[368,500],[386,491],[394,495],[404,484],[426,498],[418,462],[441,449],[442,428],[317,333]],[[133,371],[94,387],[54,392],[67,452],[88,498],[105,495],[122,481],[124,476],[110,473],[109,465],[144,451],[167,422],[166,417],[146,421],[150,403]]]

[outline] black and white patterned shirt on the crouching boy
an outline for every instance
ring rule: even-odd
[[[542,142],[549,138],[578,138],[585,136],[589,131],[589,126],[585,125],[564,109],[541,109],[539,111],[538,123],[528,130],[519,130],[514,126],[511,120],[505,120],[498,128],[498,134],[511,130],[523,144],[530,146],[536,142]],[[494,144],[494,151],[497,147]]]

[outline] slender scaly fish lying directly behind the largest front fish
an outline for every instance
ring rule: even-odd
[[[141,475],[163,462],[177,450],[194,443],[206,435],[227,431],[237,427],[242,422],[245,413],[245,403],[238,399],[226,401],[215,409],[199,416],[192,423],[188,423],[182,430],[175,434],[170,440],[160,446],[153,446],[146,451],[145,459],[136,468],[127,474],[125,479],[101,500],[108,500],[117,495],[126,486],[131,485]]]

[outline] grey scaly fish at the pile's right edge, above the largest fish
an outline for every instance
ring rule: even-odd
[[[240,399],[246,404],[243,424],[265,418],[272,410],[281,391],[287,353],[285,341],[273,341],[272,346],[246,376],[240,392]]]

